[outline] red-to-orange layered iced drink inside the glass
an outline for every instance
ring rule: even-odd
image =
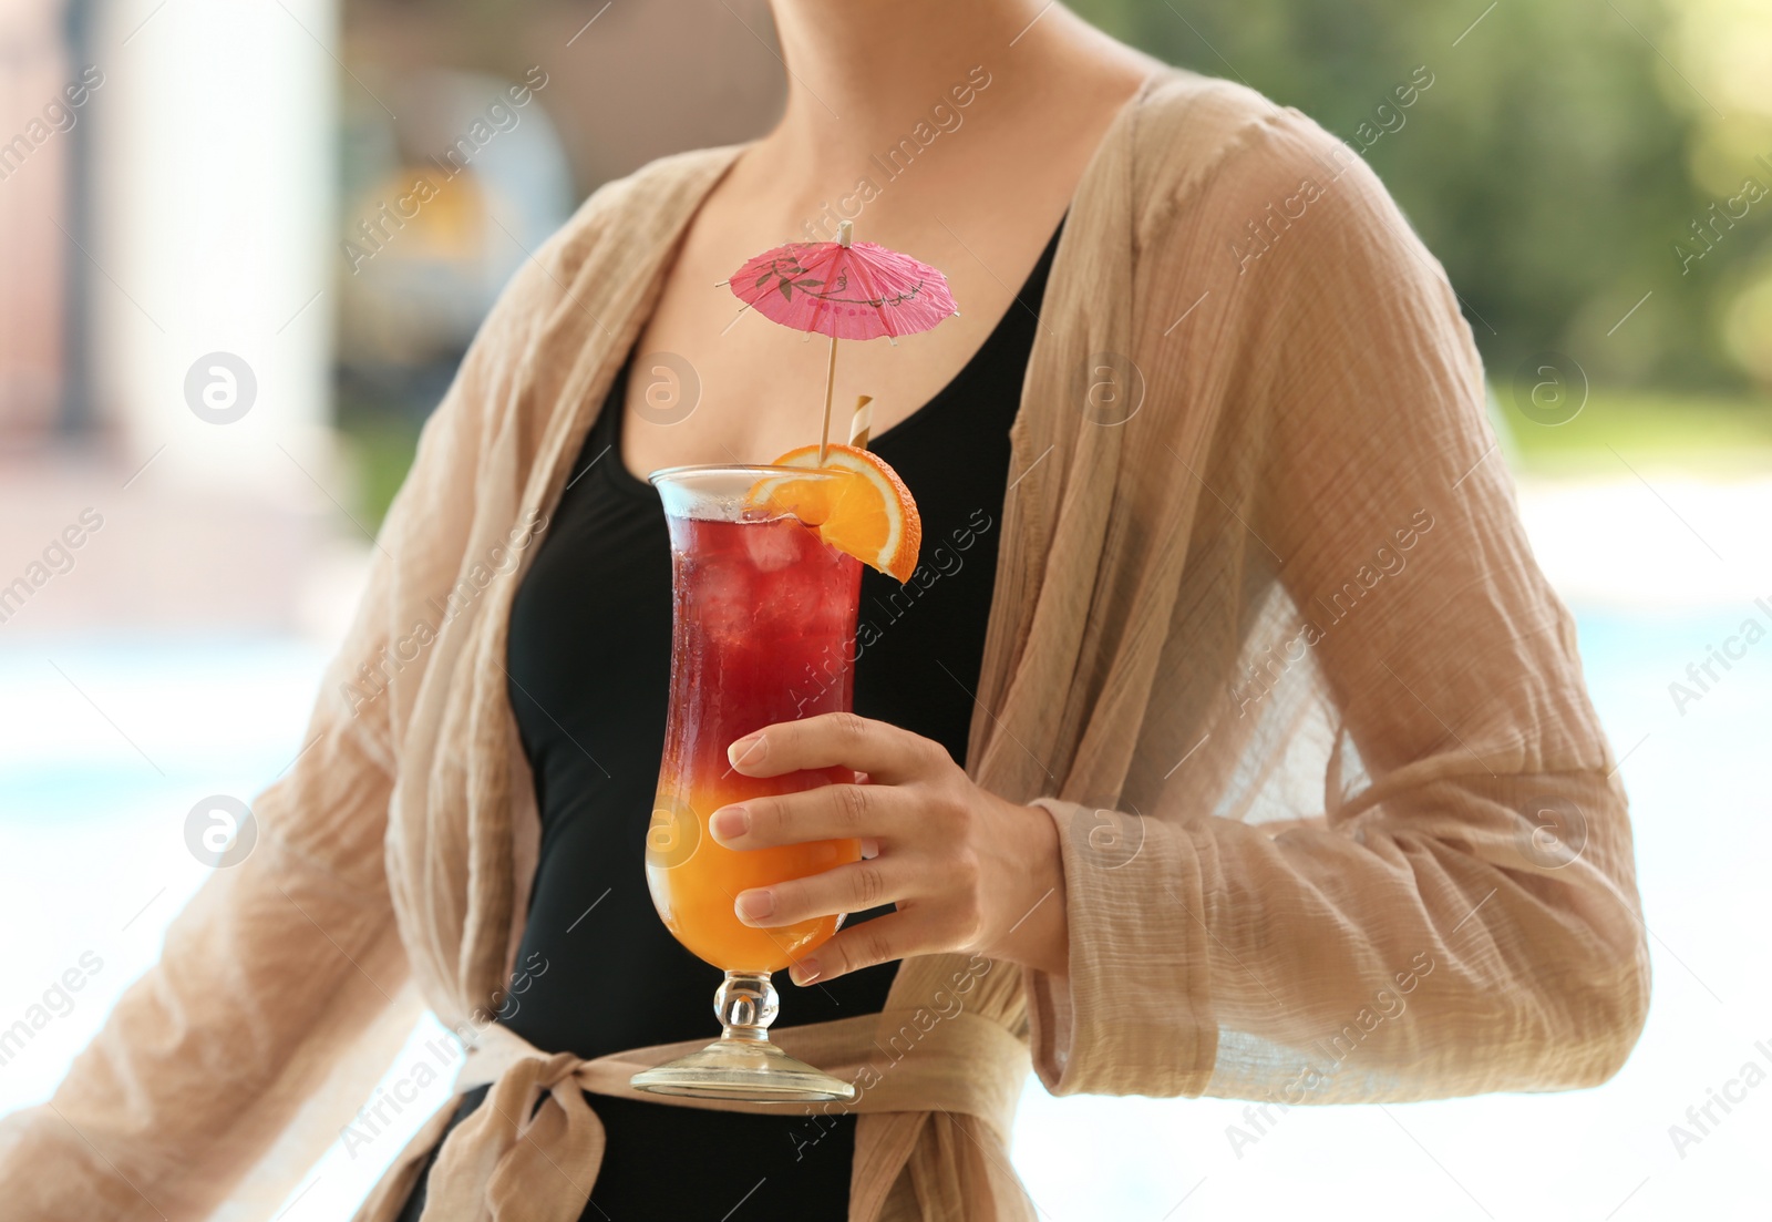
[[[778,972],[838,919],[758,929],[739,892],[861,857],[858,841],[728,850],[707,834],[723,805],[854,780],[843,768],[755,779],[727,747],[776,722],[847,709],[859,564],[792,518],[672,520],[677,564],[672,713],[647,835],[647,885],[670,931],[714,967]]]

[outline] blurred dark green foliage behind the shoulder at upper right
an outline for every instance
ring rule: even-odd
[[[1434,85],[1368,160],[1446,266],[1492,380],[1506,383],[1529,355],[1554,349],[1598,383],[1740,385],[1719,339],[1724,259],[1682,273],[1675,254],[1712,199],[1685,168],[1690,114],[1703,103],[1650,44],[1667,32],[1644,0],[1504,0],[1487,14],[1483,0],[1077,0],[1076,9],[1152,55],[1242,80],[1343,138],[1425,66]],[[1765,245],[1765,220],[1729,234],[1737,266]]]

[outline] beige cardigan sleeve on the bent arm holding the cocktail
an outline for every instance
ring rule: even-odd
[[[1598,1084],[1648,1007],[1627,803],[1458,302],[1366,163],[1295,112],[1207,179],[1217,270],[1154,312],[1210,287],[1237,362],[1235,452],[1203,479],[1251,559],[1216,571],[1240,640],[1194,708],[1244,747],[1177,766],[1157,816],[1113,816],[1129,860],[1074,834],[1106,816],[1042,803],[1070,970],[1030,974],[1035,1068],[1060,1094],[1283,1107]],[[1272,821],[1219,814],[1224,786],[1301,768],[1288,741],[1320,759],[1271,789]]]

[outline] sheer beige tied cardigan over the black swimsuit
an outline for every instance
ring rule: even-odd
[[[537,851],[501,665],[528,523],[734,154],[608,184],[507,289],[388,516],[315,741],[253,807],[255,851],[53,1103],[0,1128],[9,1218],[264,1217],[415,995],[486,1027]],[[1616,761],[1469,330],[1373,174],[1295,112],[1159,73],[1077,188],[1042,319],[968,763],[1060,825],[1070,975],[918,958],[882,1027],[780,1032],[859,1066],[955,1009],[875,1064],[851,1217],[1031,1217],[1006,1155],[1024,1046],[1058,1094],[1419,1100],[1614,1073],[1648,1006]],[[1092,392],[1106,378],[1118,397]],[[491,1179],[501,1217],[576,1217],[533,1151],[563,1142],[594,1176],[571,1082],[620,1075],[487,1039],[509,1098],[567,1085],[553,1128],[487,1146],[505,1176],[450,1179],[438,1215],[493,1217],[470,1199]]]

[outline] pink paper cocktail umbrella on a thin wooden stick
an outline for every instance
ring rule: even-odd
[[[819,461],[831,438],[831,390],[836,387],[836,341],[879,339],[927,332],[959,314],[948,278],[927,262],[872,241],[852,241],[842,222],[836,241],[790,241],[732,273],[734,296],[764,317],[801,332],[831,337],[824,372],[824,431]]]

